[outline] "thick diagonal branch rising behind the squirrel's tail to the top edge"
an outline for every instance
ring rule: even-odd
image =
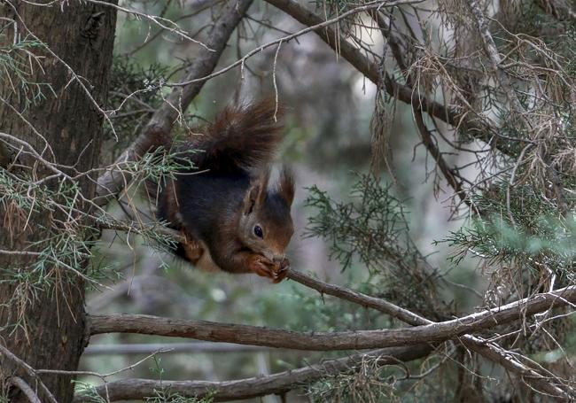
[[[214,21],[214,25],[207,35],[206,47],[198,51],[198,55],[192,61],[191,66],[187,68],[183,81],[205,77],[214,70],[230,35],[252,2],[253,0],[227,2],[222,14]],[[121,166],[140,159],[144,152],[148,151],[157,141],[158,137],[168,136],[179,113],[191,104],[192,99],[198,95],[205,82],[194,81],[185,86],[177,86],[172,90],[164,104],[154,112],[140,136],[130,144],[126,151],[122,152],[113,166],[98,178],[98,205],[105,205],[111,196],[126,186],[129,177],[127,173],[122,172]]]

